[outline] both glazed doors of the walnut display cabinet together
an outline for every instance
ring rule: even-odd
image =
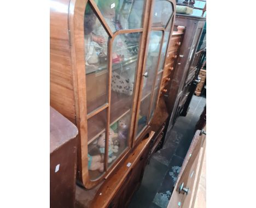
[[[146,0],[88,0],[85,7],[86,174],[94,184],[131,149],[132,137],[138,138],[154,114],[173,5],[167,0],[152,2],[153,6]],[[143,21],[146,3],[153,7],[149,22]]]

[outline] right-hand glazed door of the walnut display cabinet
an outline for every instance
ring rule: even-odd
[[[143,75],[143,88],[137,112],[137,139],[153,117],[158,100],[162,71],[173,20],[173,5],[167,0],[155,0],[152,8],[151,32]]]

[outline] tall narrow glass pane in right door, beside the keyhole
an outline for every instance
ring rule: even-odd
[[[152,31],[150,32],[150,39],[147,52],[147,62],[145,74],[148,77],[143,78],[143,89],[142,89],[142,99],[141,106],[139,108],[139,118],[137,126],[137,136],[146,127],[148,119],[148,111],[150,107],[150,98],[152,97],[152,87],[154,85],[156,77],[156,67],[158,64],[159,51],[162,39],[162,31]],[[144,74],[144,75],[145,75]]]

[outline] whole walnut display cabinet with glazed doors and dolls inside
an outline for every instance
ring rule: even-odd
[[[77,179],[87,189],[152,138],[175,7],[174,0],[50,1],[50,105],[78,127]]]

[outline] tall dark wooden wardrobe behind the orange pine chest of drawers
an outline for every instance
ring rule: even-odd
[[[182,113],[186,115],[191,97],[196,86],[194,79],[197,73],[197,60],[201,57],[196,53],[206,19],[190,15],[176,15],[175,27],[184,26],[185,32],[179,50],[177,64],[168,93],[168,106],[171,114],[168,120],[168,131],[174,125],[176,119]],[[194,62],[195,59],[195,62]]]

